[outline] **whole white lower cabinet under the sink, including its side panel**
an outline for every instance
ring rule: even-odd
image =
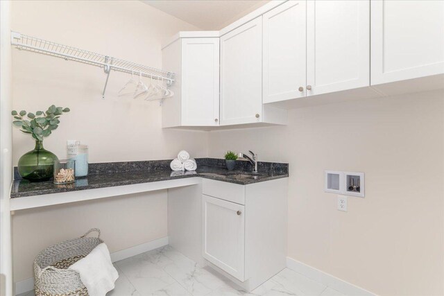
[[[204,179],[202,256],[247,291],[285,268],[288,179],[239,185]]]

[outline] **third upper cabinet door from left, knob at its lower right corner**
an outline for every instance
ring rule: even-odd
[[[305,0],[287,1],[263,15],[264,103],[305,96],[305,17]]]

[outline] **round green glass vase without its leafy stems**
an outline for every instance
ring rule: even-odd
[[[43,148],[43,141],[35,141],[34,150],[19,159],[19,174],[31,182],[47,181],[53,177],[55,160],[57,156]]]

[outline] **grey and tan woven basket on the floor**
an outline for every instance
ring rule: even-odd
[[[99,235],[96,238],[86,237],[90,232],[98,232]],[[46,247],[34,261],[35,295],[88,296],[78,272],[68,268],[101,243],[100,230],[93,228],[80,238]]]

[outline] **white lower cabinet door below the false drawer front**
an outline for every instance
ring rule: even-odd
[[[202,195],[203,257],[244,281],[244,206]]]

